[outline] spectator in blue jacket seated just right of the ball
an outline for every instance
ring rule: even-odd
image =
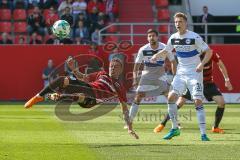
[[[84,26],[83,21],[78,22],[78,28],[76,29],[75,32],[75,37],[80,38],[82,43],[88,43],[89,41],[89,31],[87,27]]]

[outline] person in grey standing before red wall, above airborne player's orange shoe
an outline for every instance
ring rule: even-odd
[[[56,78],[56,75],[53,75],[55,71],[55,68],[53,66],[53,60],[49,59],[48,60],[48,65],[47,67],[43,70],[43,74],[42,74],[42,79],[44,82],[44,87],[47,86],[49,84],[49,81],[53,80],[54,78]]]

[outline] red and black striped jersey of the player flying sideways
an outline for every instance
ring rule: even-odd
[[[126,90],[116,79],[111,78],[107,72],[100,71],[87,76],[89,85],[93,88],[97,99],[118,96],[119,101],[127,102]]]

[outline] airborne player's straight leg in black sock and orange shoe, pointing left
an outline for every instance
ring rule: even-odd
[[[65,77],[58,77],[44,89],[42,89],[37,95],[32,97],[29,101],[27,101],[24,105],[25,108],[31,108],[34,104],[44,101],[44,96],[47,93],[53,92],[57,87],[63,87]]]

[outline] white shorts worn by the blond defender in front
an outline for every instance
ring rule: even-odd
[[[192,99],[203,100],[203,74],[202,72],[189,75],[176,75],[172,82],[172,92],[178,96],[189,89]]]

